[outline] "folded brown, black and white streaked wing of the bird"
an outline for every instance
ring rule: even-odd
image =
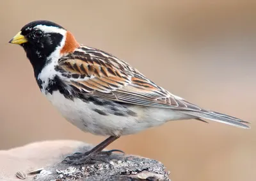
[[[200,111],[201,108],[172,95],[124,61],[98,49],[80,47],[58,61],[56,71],[76,93],[137,104]]]

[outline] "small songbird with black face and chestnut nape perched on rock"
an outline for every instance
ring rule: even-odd
[[[90,164],[110,143],[171,120],[213,120],[248,129],[243,120],[203,109],[157,86],[122,59],[79,44],[72,33],[48,20],[26,24],[10,43],[19,44],[36,82],[68,122],[84,132],[109,136],[68,164]],[[120,150],[119,150],[120,151]]]

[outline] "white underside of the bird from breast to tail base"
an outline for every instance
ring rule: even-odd
[[[60,91],[53,91],[45,95],[60,111],[68,122],[76,125],[84,132],[102,136],[121,136],[134,134],[148,127],[161,125],[168,120],[184,119],[184,114],[171,109],[127,105],[127,108],[115,107],[119,114],[114,114],[108,106],[97,105],[93,102],[84,102],[79,98],[70,100]],[[116,104],[118,106],[118,104]],[[97,111],[95,111],[97,109]],[[99,114],[99,111],[101,111]],[[114,110],[115,111],[115,110]],[[124,113],[120,115],[120,113]],[[131,114],[132,113],[132,114]]]

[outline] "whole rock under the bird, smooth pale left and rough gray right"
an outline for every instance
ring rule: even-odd
[[[0,180],[20,180],[15,174],[26,173],[26,180],[170,180],[161,162],[136,155],[113,153],[109,162],[82,166],[62,164],[75,152],[86,152],[92,145],[80,141],[56,140],[31,143],[0,150]],[[29,174],[31,169],[44,168]]]

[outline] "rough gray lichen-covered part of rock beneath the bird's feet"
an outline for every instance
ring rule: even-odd
[[[86,152],[92,146],[78,148]],[[63,159],[67,155],[63,155]],[[105,157],[105,155],[102,155]],[[143,157],[113,153],[108,163],[70,166],[58,163],[45,168],[34,180],[169,180],[161,162]]]

